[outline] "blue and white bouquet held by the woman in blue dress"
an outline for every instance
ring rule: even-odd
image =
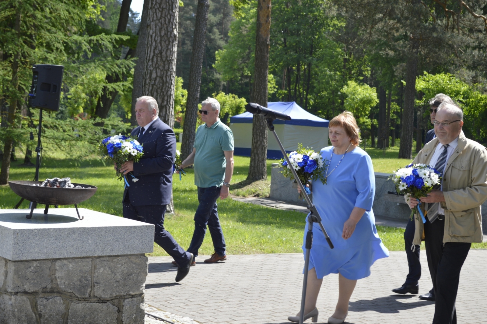
[[[293,172],[291,168],[296,170],[298,177],[301,180],[303,186],[306,187],[306,184],[309,180],[320,180],[323,184],[326,184],[325,179],[325,167],[327,165],[328,160],[323,159],[319,152],[315,152],[309,148],[303,148],[302,144],[298,144],[298,150],[293,151],[287,155],[289,157],[289,161],[291,162],[291,166],[287,164],[287,161],[284,158],[278,162],[278,165],[275,168],[282,168],[281,171],[282,175],[286,178],[294,179]],[[308,188],[305,188],[306,193],[310,194]],[[300,199],[302,199],[304,194],[300,193]]]

